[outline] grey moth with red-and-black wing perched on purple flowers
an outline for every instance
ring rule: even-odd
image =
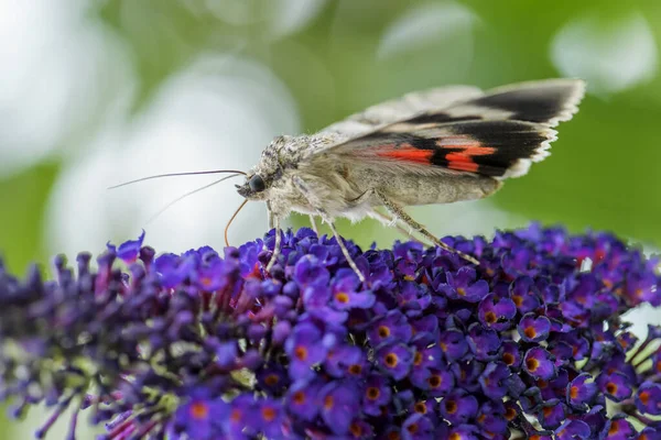
[[[245,175],[237,190],[246,200],[228,227],[247,201],[266,201],[269,227],[275,228],[267,271],[280,254],[281,220],[292,211],[308,215],[315,232],[317,217],[329,226],[361,282],[365,275],[337,233],[336,218],[369,217],[478,264],[403,208],[481,199],[505,179],[523,176],[549,155],[557,134],[553,128],[572,119],[584,91],[579,79],[521,82],[486,92],[470,86],[434,88],[370,107],[315,134],[278,136],[248,173],[148,178],[231,173],[215,185]]]

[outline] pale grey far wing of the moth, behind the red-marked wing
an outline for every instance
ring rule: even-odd
[[[354,138],[415,114],[444,109],[454,102],[479,97],[484,92],[472,86],[446,86],[415,91],[401,98],[367,108],[322,130],[322,133]]]

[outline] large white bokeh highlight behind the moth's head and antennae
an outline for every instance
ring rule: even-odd
[[[231,66],[231,67],[228,67]],[[296,133],[299,118],[288,90],[262,65],[205,56],[166,80],[144,112],[110,128],[61,174],[44,228],[51,253],[75,255],[108,239],[121,242],[144,228],[158,251],[204,244],[224,248],[224,228],[242,200],[241,178],[191,196],[147,221],[180,195],[219,176],[173,177],[113,190],[134,178],[205,169],[245,169],[274,135]],[[263,204],[248,204],[230,230],[230,244],[260,237]]]

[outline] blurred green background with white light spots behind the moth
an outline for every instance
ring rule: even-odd
[[[22,273],[30,261],[98,252],[142,228],[161,251],[220,249],[240,202],[231,184],[152,222],[210,180],[106,188],[158,173],[245,169],[275,135],[314,132],[416,89],[560,76],[587,79],[589,92],[549,160],[488,200],[411,212],[438,234],[535,219],[654,250],[660,41],[658,0],[6,0],[0,252]],[[362,245],[398,238],[367,221],[340,230]],[[230,240],[264,231],[264,208],[249,207]],[[41,417],[20,432],[2,422],[0,438],[26,438]]]

